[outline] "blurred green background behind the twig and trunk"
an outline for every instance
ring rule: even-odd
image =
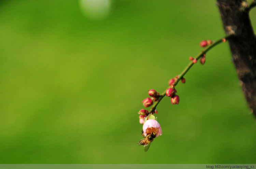
[[[203,39],[225,36],[214,0],[112,0],[87,18],[77,0],[0,2],[0,163],[256,162],[255,117],[220,44],[157,107],[148,152],[138,111]],[[256,27],[256,11],[251,11]]]

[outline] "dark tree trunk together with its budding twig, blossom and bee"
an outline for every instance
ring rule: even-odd
[[[221,42],[228,40],[230,50],[232,53],[233,62],[236,66],[238,77],[242,82],[242,89],[249,107],[256,116],[256,37],[254,35],[252,25],[249,18],[249,11],[256,6],[253,1],[249,6],[244,0],[217,0],[217,5],[221,13],[226,37],[221,38],[212,43],[212,41],[202,41],[200,46],[205,47],[195,58],[190,57],[191,62],[179,74],[169,81],[170,87],[166,89],[161,95],[154,89],[148,91],[150,98],[145,98],[142,102],[145,107],[150,107],[150,111],[141,109],[140,123],[143,124],[142,135],[146,137],[138,143],[144,145],[144,150],[147,151],[153,139],[162,135],[162,130],[159,123],[156,121],[154,113],[157,113],[156,107],[163,97],[166,95],[171,97],[172,104],[179,104],[179,96],[175,95],[174,87],[181,80],[185,82],[185,74],[189,69],[200,59],[204,64],[205,54],[213,47]],[[153,103],[154,101],[155,103]],[[148,120],[147,120],[148,119]],[[145,121],[147,120],[147,121]]]

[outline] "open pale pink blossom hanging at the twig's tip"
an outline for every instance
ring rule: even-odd
[[[152,132],[156,133],[156,137],[162,135],[162,129],[160,124],[156,120],[147,120],[143,127],[143,134],[146,136],[147,134],[151,134]]]

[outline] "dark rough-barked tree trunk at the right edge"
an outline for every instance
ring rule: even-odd
[[[217,0],[224,30],[229,38],[233,63],[241,80],[248,106],[256,116],[256,37],[247,3],[243,0]]]

